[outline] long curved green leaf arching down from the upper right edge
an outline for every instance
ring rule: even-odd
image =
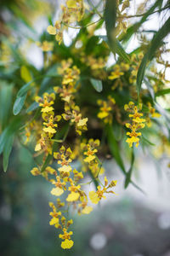
[[[161,44],[163,43],[162,40],[167,36],[167,34],[170,32],[170,18],[164,23],[163,26],[161,26],[161,29],[156,32],[154,38],[152,39],[150,43],[150,48],[144,55],[143,60],[141,61],[141,64],[139,66],[139,71],[137,74],[137,92],[139,95],[141,84],[144,79],[144,71],[146,68],[146,64],[148,61],[151,61],[156,53],[156,49],[159,49]]]

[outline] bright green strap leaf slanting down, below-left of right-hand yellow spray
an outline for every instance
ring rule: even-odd
[[[122,172],[126,174],[125,166],[123,164],[122,156],[120,154],[120,148],[118,147],[118,143],[116,142],[116,138],[111,125],[106,126],[106,131],[107,131],[107,141],[111,150],[111,154],[115,158],[116,163],[121,168]]]

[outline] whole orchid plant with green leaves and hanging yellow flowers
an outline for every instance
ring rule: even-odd
[[[20,143],[37,165],[32,175],[45,177],[53,185],[52,195],[65,195],[63,201],[49,203],[49,224],[62,230],[64,249],[74,243],[69,213],[88,214],[93,211],[88,197],[98,204],[105,195],[116,194],[116,180],[108,182],[107,174],[102,178],[107,155],[124,174],[125,188],[131,183],[143,191],[132,180],[139,143],[150,155],[169,154],[169,108],[161,108],[157,98],[167,104],[170,92],[166,79],[170,64],[163,58],[169,52],[170,18],[166,16],[158,31],[148,32],[143,24],[153,14],[165,14],[170,4],[154,1],[150,6],[144,1],[135,15],[129,15],[131,2],[67,0],[54,22],[54,6],[49,3],[4,3],[11,20],[8,26],[3,23],[0,39],[3,169],[7,171],[13,144]],[[38,35],[35,23],[40,15],[48,18],[48,26]],[[99,34],[103,28],[106,35]],[[65,33],[73,31],[77,35],[68,46]],[[134,34],[139,47],[127,53]],[[30,44],[42,53],[41,68],[27,55]],[[84,186],[90,183],[95,191],[87,195]]]

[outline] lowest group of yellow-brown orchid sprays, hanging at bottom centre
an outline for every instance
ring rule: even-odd
[[[84,161],[88,162],[89,168],[92,168],[95,165],[95,153],[98,151],[95,147],[97,146],[99,146],[99,140],[94,141],[93,139],[90,139],[88,144],[82,143],[82,148],[85,150],[84,154],[87,156]],[[42,175],[48,182],[52,183],[54,186],[51,190],[52,195],[59,197],[60,195],[63,195],[64,192],[67,193],[66,202],[62,202],[57,198],[56,204],[53,202],[49,203],[49,206],[52,208],[52,212],[49,212],[49,215],[52,217],[49,224],[54,225],[56,229],[62,230],[63,233],[59,234],[59,238],[63,240],[61,242],[61,247],[64,249],[70,249],[74,244],[71,240],[73,232],[68,231],[70,225],[73,224],[72,219],[68,220],[66,218],[69,211],[68,207],[72,207],[74,211],[77,210],[78,214],[89,214],[93,211],[93,207],[88,206],[88,195],[82,190],[82,185],[79,183],[83,178],[82,172],[78,172],[76,169],[72,170],[71,154],[71,148],[61,146],[59,152],[54,152],[54,159],[57,160],[57,164],[59,165],[58,171],[51,166],[46,167],[43,172],[37,167],[34,167],[31,170],[32,175]],[[100,166],[98,166],[98,169],[99,172]],[[52,175],[53,177],[49,177],[49,175]],[[105,177],[105,185],[103,189],[99,186],[96,192],[91,191],[92,193],[89,193],[90,200],[93,203],[97,203],[96,201],[100,201],[102,197],[105,198],[103,195],[104,193],[115,194],[113,191],[108,190],[113,186],[116,186],[116,181],[112,181],[108,185]],[[65,204],[68,205],[67,210],[65,210]]]

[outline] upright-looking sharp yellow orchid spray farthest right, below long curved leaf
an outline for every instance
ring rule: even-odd
[[[127,131],[127,140],[129,147],[132,148],[133,143],[136,143],[136,147],[139,146],[139,137],[142,135],[141,132],[137,132],[144,128],[145,119],[141,118],[143,113],[139,113],[142,109],[142,105],[139,104],[139,108],[134,105],[134,102],[129,102],[124,106],[124,109],[129,112],[129,118],[132,120],[131,123],[126,123],[126,127],[131,130]]]

